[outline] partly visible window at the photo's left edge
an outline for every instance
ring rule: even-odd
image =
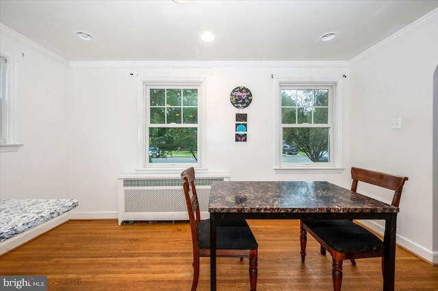
[[[16,152],[23,146],[16,143],[16,110],[12,83],[14,59],[0,55],[0,151]]]

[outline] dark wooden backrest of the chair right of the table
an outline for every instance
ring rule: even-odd
[[[351,178],[353,179],[351,191],[357,191],[357,182],[359,181],[394,190],[395,192],[391,205],[396,207],[400,204],[404,182],[408,180],[407,177],[395,176],[357,167],[351,168]]]

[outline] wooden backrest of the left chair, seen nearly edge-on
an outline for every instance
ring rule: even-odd
[[[198,223],[201,222],[201,212],[199,211],[198,195],[196,194],[196,186],[194,185],[194,167],[185,169],[181,173],[183,179],[183,189],[185,195],[185,203],[190,220],[190,230],[192,230],[192,242],[194,251],[198,249]]]

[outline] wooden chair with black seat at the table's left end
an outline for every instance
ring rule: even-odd
[[[193,244],[192,291],[196,290],[199,279],[199,258],[210,256],[210,220],[201,221],[196,194],[194,168],[181,173],[185,202],[189,212]],[[249,258],[249,278],[251,290],[257,287],[257,240],[246,221],[218,221],[216,229],[216,256],[226,258]]]

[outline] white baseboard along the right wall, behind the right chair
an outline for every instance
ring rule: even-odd
[[[378,225],[374,221],[365,221],[361,220],[359,223],[364,225],[365,227],[370,228],[371,230],[374,230],[374,232],[377,232],[381,236],[385,233],[385,228],[381,225]],[[431,251],[430,249],[426,249],[426,247],[423,247],[422,245],[419,245],[412,240],[409,240],[408,238],[405,238],[404,236],[400,236],[400,234],[397,234],[396,238],[397,245],[400,245],[400,247],[403,247],[404,249],[407,249],[408,251],[411,251],[412,253],[415,253],[415,255],[418,255],[419,257],[423,258],[427,262],[430,262],[430,264],[438,264],[438,252],[437,251]]]

